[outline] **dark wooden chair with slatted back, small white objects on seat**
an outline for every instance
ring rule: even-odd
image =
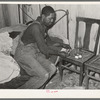
[[[84,27],[81,24],[83,24]],[[92,18],[76,17],[75,48],[70,52],[70,55],[68,57],[64,58],[64,60],[67,62],[67,66],[61,64],[59,66],[61,75],[63,72],[62,70],[63,68],[78,73],[80,86],[82,85],[84,78],[84,63],[96,55],[98,48],[100,26],[94,27],[95,25],[99,26],[100,20]],[[97,28],[97,30],[93,33],[91,32],[91,30],[94,31],[94,28]],[[96,37],[94,41],[95,43],[91,39],[91,35],[95,35]],[[90,41],[92,41],[92,43]],[[92,49],[90,48],[90,45],[93,45]],[[80,55],[81,57],[78,58]],[[72,64],[79,67],[80,70],[77,70],[76,67],[75,68],[69,67]]]

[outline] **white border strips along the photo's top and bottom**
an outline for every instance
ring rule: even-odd
[[[100,2],[98,1],[74,1],[74,2],[70,2],[70,0],[65,0],[63,2],[59,2],[59,1],[47,1],[47,2],[41,2],[41,1],[16,1],[14,0],[14,2],[12,1],[3,1],[1,2],[0,0],[0,4],[29,4],[29,3],[33,3],[33,4],[99,4]],[[26,99],[26,100],[36,100],[36,98],[40,99],[40,100],[50,100],[50,98],[52,99],[57,99],[57,98],[62,98],[60,100],[75,100],[75,98],[77,98],[77,100],[84,100],[84,98],[86,98],[85,100],[89,100],[89,98],[91,98],[91,100],[96,100],[97,98],[100,98],[100,91],[99,90],[50,90],[51,92],[56,91],[55,93],[47,93],[48,90],[29,90],[29,89],[21,89],[21,90],[9,90],[9,89],[1,89],[0,90],[0,99],[2,100],[8,100],[8,99],[16,99],[16,100],[22,100],[22,99]],[[20,98],[20,99],[19,99]],[[35,99],[33,99],[35,98]],[[66,98],[66,99],[64,99]],[[82,99],[83,98],[83,99]],[[13,100],[14,100],[13,99]],[[52,99],[52,100],[53,100]],[[59,100],[59,99],[57,99]]]

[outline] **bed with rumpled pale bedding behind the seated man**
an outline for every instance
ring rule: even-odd
[[[0,29],[0,89],[17,89],[29,79],[13,58],[20,34],[26,28],[27,25],[18,24]]]

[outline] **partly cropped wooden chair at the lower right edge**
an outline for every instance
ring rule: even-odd
[[[90,72],[94,74],[90,74]],[[89,80],[95,80],[100,82],[100,77],[96,77],[95,73],[100,74],[100,55],[93,57],[91,60],[85,63],[85,73],[86,73],[86,80],[85,80],[85,88],[89,88]]]

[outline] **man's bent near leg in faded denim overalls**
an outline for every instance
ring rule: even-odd
[[[18,64],[30,75],[30,79],[19,89],[37,89],[41,87],[49,79],[49,73],[32,55],[23,55],[21,59]]]

